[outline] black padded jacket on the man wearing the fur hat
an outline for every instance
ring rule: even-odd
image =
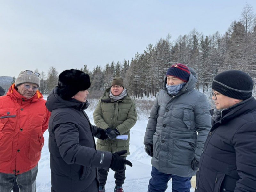
[[[98,191],[97,168],[108,169],[112,155],[96,150],[94,133],[84,110],[89,103],[63,100],[56,87],[48,96],[49,151],[52,190],[56,192]],[[92,184],[93,183],[93,184]]]

